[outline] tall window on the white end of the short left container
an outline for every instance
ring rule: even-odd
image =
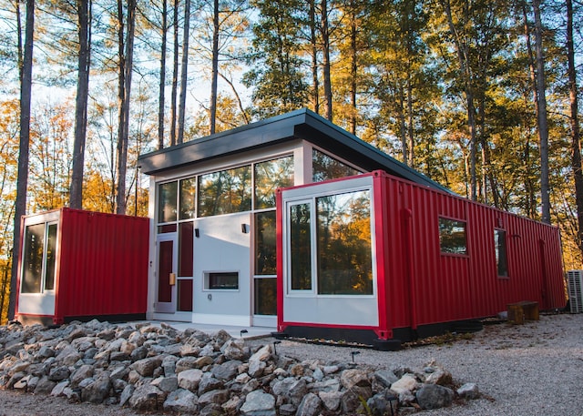
[[[56,228],[56,223],[26,227],[22,293],[55,289]]]

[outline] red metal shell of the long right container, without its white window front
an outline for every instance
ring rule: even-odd
[[[361,340],[363,332],[369,330],[379,340],[411,340],[451,330],[454,323],[495,316],[512,302],[537,301],[540,309],[565,306],[558,228],[383,171],[359,178],[365,176],[373,177],[378,325],[339,328],[337,324],[286,320],[283,189],[278,193],[278,331],[308,337],[332,333],[344,340],[351,340],[352,331],[360,332],[356,338]],[[353,178],[337,181],[345,181],[350,188]],[[323,186],[324,182],[290,189]],[[441,252],[439,218],[465,222],[466,255]],[[507,277],[497,275],[495,229],[506,231]],[[332,331],[326,332],[326,327]]]

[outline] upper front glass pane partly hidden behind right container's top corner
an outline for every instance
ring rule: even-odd
[[[293,157],[255,164],[255,209],[275,208],[275,189],[293,185]]]

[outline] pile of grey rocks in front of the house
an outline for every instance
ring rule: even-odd
[[[0,327],[0,388],[137,411],[246,416],[385,415],[480,396],[475,384],[456,386],[435,362],[417,371],[378,370],[247,344],[222,330],[166,324],[11,323]]]

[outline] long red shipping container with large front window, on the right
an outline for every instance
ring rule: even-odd
[[[358,214],[342,209],[360,199],[341,197],[337,207],[330,202],[335,196],[351,193],[370,198],[373,289],[365,293],[322,292],[320,274],[332,273],[333,279],[341,282],[353,272],[337,264],[330,266],[332,271],[321,272],[321,257],[323,263],[330,253],[322,251],[318,235],[325,233],[330,238],[333,234],[333,229],[322,225],[331,220],[334,208],[340,208],[333,216],[343,218],[338,220],[341,222],[350,222],[346,218]],[[300,218],[298,207],[312,214]],[[469,320],[496,316],[509,303],[537,302],[539,309],[565,307],[556,227],[384,171],[281,189],[277,208],[281,334],[374,344],[455,330]],[[292,229],[294,221],[303,221],[302,230],[298,226],[300,232],[312,233],[311,239],[304,238],[312,247],[311,260],[299,249],[299,260],[292,259],[297,245],[293,246],[291,238],[299,235]],[[346,234],[339,236],[335,244],[342,247],[340,241],[346,238]],[[343,257],[351,254],[344,251]],[[312,266],[306,269],[312,268],[312,283],[299,287],[300,280],[294,283],[292,269],[309,261]],[[362,268],[356,265],[353,269]]]

